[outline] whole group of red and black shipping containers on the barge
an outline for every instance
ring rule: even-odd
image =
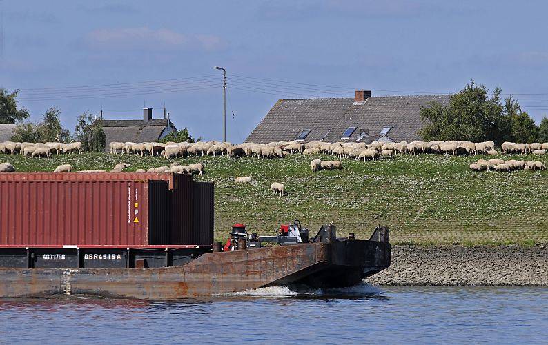
[[[150,173],[0,174],[0,245],[213,242],[213,184]]]

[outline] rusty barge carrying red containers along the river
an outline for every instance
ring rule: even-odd
[[[0,178],[0,195],[11,196],[9,204],[0,200],[0,297],[177,299],[287,284],[339,287],[390,266],[386,227],[359,240],[337,237],[332,224],[311,239],[297,222],[276,236],[235,224],[223,247],[213,242],[213,185],[181,176]],[[14,185],[25,192],[2,193]]]

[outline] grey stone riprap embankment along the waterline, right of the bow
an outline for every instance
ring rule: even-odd
[[[379,285],[548,286],[547,246],[393,246]]]

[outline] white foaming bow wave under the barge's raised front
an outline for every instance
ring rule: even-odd
[[[230,295],[239,296],[257,296],[257,297],[280,297],[280,296],[298,296],[298,295],[312,295],[312,296],[356,296],[356,295],[373,295],[381,293],[379,288],[367,284],[366,282],[360,282],[347,288],[310,288],[305,285],[292,285],[292,286],[268,286],[266,288],[257,288],[255,290],[246,290],[238,293],[231,293]]]

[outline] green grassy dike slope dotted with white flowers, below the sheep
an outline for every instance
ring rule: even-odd
[[[540,160],[533,155],[501,159]],[[190,157],[171,161],[202,163],[197,181],[215,182],[215,238],[228,236],[242,222],[251,232],[272,234],[294,219],[311,230],[337,225],[340,235],[369,237],[378,224],[391,228],[393,243],[480,244],[548,242],[548,171],[472,172],[468,165],[485,156],[398,156],[383,161],[343,160],[342,170],[312,172],[310,161],[332,156],[290,155],[284,159]],[[489,156],[487,159],[493,158]],[[84,153],[52,159],[1,155],[19,172],[52,171],[59,164],[75,170],[106,169],[127,161],[128,169],[169,165],[162,157]],[[235,184],[238,176],[251,184]],[[286,188],[283,197],[270,190]]]

